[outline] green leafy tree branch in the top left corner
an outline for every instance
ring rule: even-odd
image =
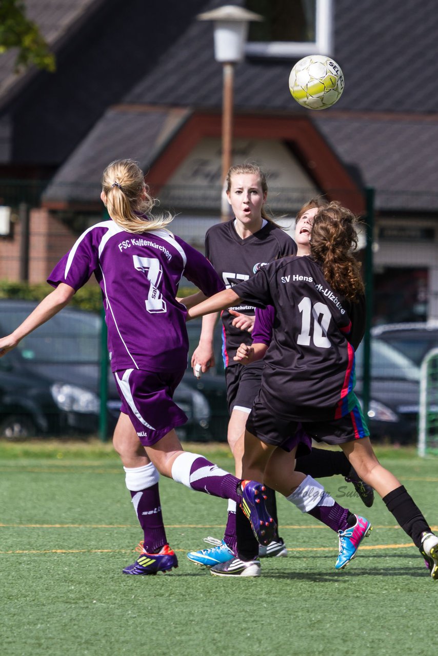
[[[37,24],[27,18],[24,2],[1,0],[0,54],[12,48],[18,48],[16,72],[32,64],[50,72],[55,71],[55,55],[49,50]]]

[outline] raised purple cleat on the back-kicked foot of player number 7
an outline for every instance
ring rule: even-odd
[[[266,487],[256,481],[242,481],[242,502],[240,504],[244,514],[250,520],[251,527],[257,542],[267,546],[276,536],[276,523],[267,511],[265,505]]]

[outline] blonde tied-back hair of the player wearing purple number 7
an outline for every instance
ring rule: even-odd
[[[144,174],[133,159],[118,159],[102,174],[102,201],[112,220],[127,232],[165,228],[173,220],[169,213],[151,215],[157,201],[148,192]]]

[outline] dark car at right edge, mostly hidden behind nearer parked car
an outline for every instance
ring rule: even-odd
[[[386,323],[374,327],[372,335],[397,348],[420,366],[424,356],[438,347],[438,321]]]

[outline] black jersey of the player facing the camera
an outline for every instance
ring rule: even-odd
[[[242,239],[234,228],[234,220],[215,224],[206,234],[206,257],[223,279],[227,289],[251,278],[261,267],[284,255],[294,255],[296,243],[286,232],[265,220],[265,224],[253,235]],[[233,308],[242,314],[254,314],[255,307],[242,303]],[[236,365],[233,361],[236,350],[242,342],[251,344],[250,333],[232,325],[234,317],[224,310],[223,321],[223,360],[225,367]]]

